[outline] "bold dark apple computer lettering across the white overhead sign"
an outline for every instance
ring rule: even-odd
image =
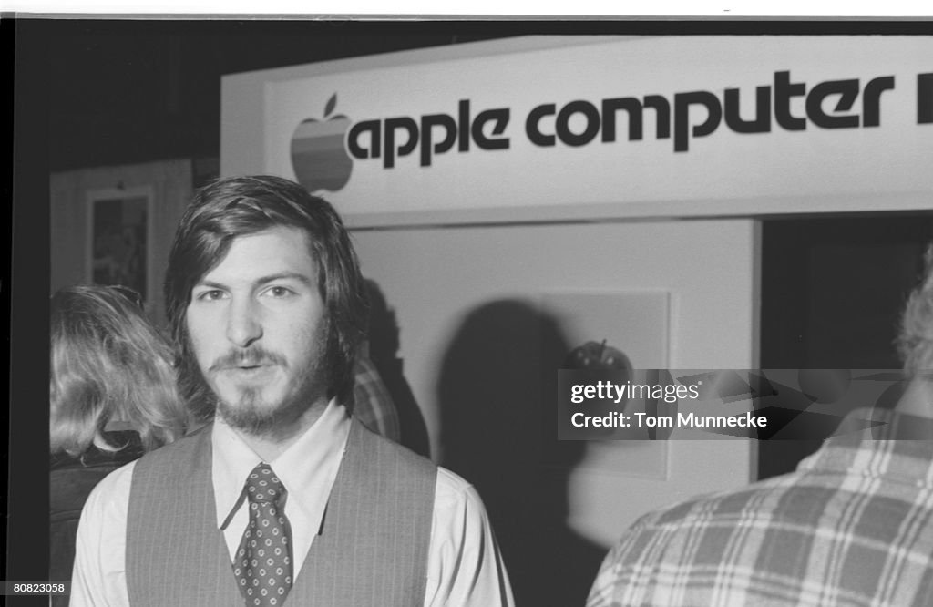
[[[810,124],[822,129],[878,127],[883,93],[894,88],[894,76],[880,76],[864,85],[858,78],[849,78],[818,82],[808,89],[805,82],[793,81],[789,71],[779,71],[774,72],[771,85],[754,92],[726,88],[720,93],[692,91],[609,97],[598,102],[575,100],[562,106],[540,104],[524,117],[524,135],[541,148],[558,143],[578,148],[596,140],[618,141],[623,124],[628,141],[642,140],[646,123],[653,122],[656,139],[669,139],[673,134],[674,151],[684,152],[691,139],[715,133],[722,122],[738,134],[770,133],[773,123],[791,132],[805,131]],[[744,118],[740,101],[749,94],[754,96],[755,111]],[[792,107],[795,99],[802,107]],[[651,110],[653,120],[646,110]],[[435,156],[453,148],[458,152],[508,149],[511,117],[509,107],[477,112],[469,99],[462,99],[453,114],[361,120],[349,130],[346,144],[355,159],[382,159],[384,168],[396,166],[398,159],[416,151],[420,165],[430,166]],[[933,73],[917,76],[917,123],[933,123]]]

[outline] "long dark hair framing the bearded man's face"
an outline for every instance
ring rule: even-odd
[[[185,314],[191,289],[223,261],[235,238],[281,226],[308,234],[317,264],[318,289],[327,308],[327,396],[347,400],[352,393],[356,348],[365,332],[368,303],[359,261],[340,216],[326,200],[287,179],[230,177],[195,194],[178,224],[165,275],[179,385],[202,420],[214,415],[216,401],[188,339]]]

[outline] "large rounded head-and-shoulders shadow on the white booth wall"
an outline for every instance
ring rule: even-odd
[[[443,360],[442,464],[480,492],[517,604],[582,605],[606,550],[567,526],[567,483],[586,444],[557,441],[554,318],[496,301],[470,313]]]

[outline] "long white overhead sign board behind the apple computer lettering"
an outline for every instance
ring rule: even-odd
[[[507,149],[482,149],[468,125],[457,126],[456,144],[432,153],[429,164],[419,153],[429,148],[422,137],[411,153],[397,154],[387,166],[383,141],[378,158],[345,162],[352,166],[345,186],[319,193],[360,227],[916,209],[927,208],[933,197],[933,172],[927,170],[933,123],[919,123],[917,110],[933,103],[921,99],[918,87],[918,75],[933,72],[929,36],[639,36],[589,44],[577,38],[574,45],[550,49],[529,48],[528,42],[227,77],[222,169],[295,178],[291,141],[303,120],[341,115],[348,128],[375,120],[384,138],[389,119],[413,120],[424,134],[425,116],[443,114],[466,124],[482,111],[503,110],[508,123],[496,136],[508,139]],[[793,94],[778,82],[779,73],[789,74]],[[876,78],[893,78],[893,88],[867,93]],[[818,101],[813,92],[823,90],[818,85],[837,81],[855,87],[846,100],[851,106],[835,111],[839,94],[811,103]],[[768,106],[761,105],[768,130],[739,133],[726,120],[726,91],[739,92],[737,114],[748,121],[757,115],[759,87],[770,91]],[[683,95],[695,92],[715,99],[711,107],[723,112],[708,134],[693,130],[711,115],[704,106],[686,105]],[[648,96],[670,106],[664,122],[670,136],[659,136],[655,111],[646,109],[643,136],[629,140],[626,112],[612,114],[603,102],[627,97],[643,103]],[[326,116],[331,99],[336,106]],[[466,121],[461,102],[468,102]],[[598,115],[588,122],[581,111],[568,112],[572,134],[583,133],[587,124],[601,129],[611,114],[618,117],[616,140],[604,141],[598,131],[581,145],[536,145],[526,126],[532,111],[553,104],[557,115],[574,102],[589,104]],[[802,128],[778,117],[782,103],[803,120]],[[879,108],[876,126],[865,124],[872,106]],[[817,107],[831,118],[854,117],[857,126],[820,126]],[[556,123],[556,116],[547,117],[541,130],[553,134]],[[431,132],[437,144],[444,129]],[[686,150],[675,150],[678,133],[687,134]],[[397,147],[407,139],[397,131]],[[371,148],[365,136],[354,141]],[[327,149],[349,158],[350,143],[348,138],[341,150],[330,142]]]

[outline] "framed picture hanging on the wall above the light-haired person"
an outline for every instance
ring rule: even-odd
[[[152,203],[147,186],[89,192],[88,282],[129,287],[148,301]]]

